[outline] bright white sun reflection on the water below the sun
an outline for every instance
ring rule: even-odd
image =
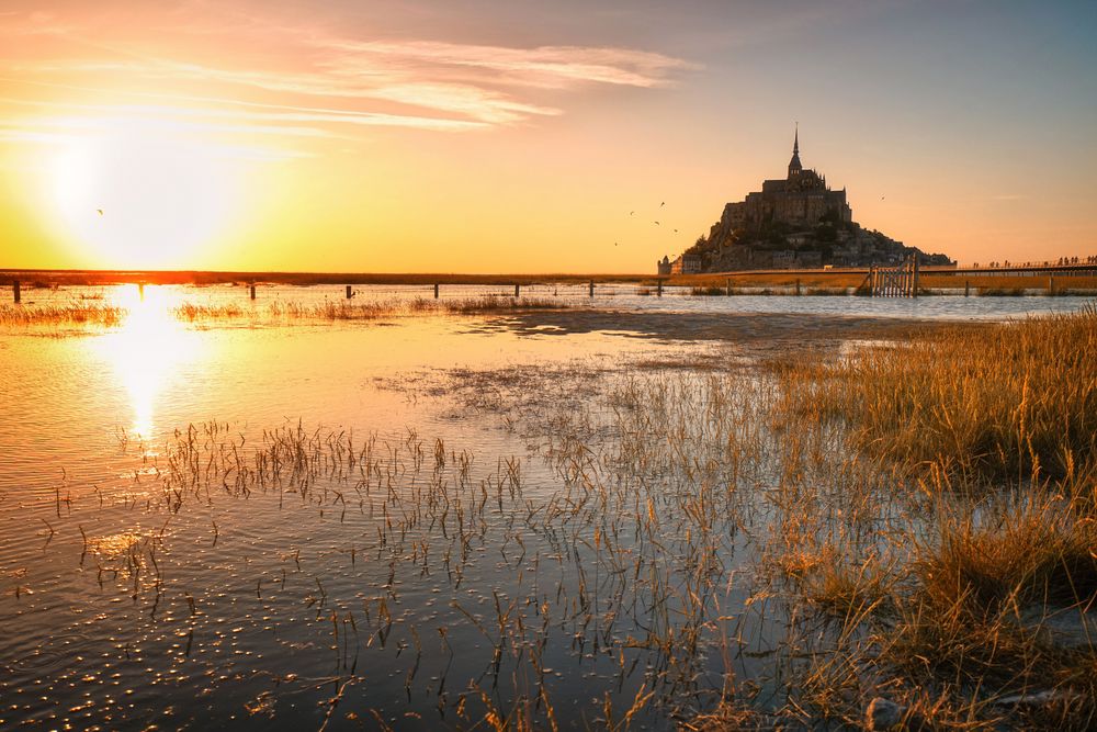
[[[147,438],[152,433],[157,398],[180,367],[201,348],[199,334],[182,327],[171,303],[158,288],[127,288],[116,304],[128,311],[122,328],[103,336],[106,359],[129,395],[133,424],[127,431]]]

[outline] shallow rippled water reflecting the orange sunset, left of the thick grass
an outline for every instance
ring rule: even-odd
[[[627,436],[607,431],[604,398],[640,363],[685,362],[687,380],[702,379],[690,363],[749,360],[757,347],[630,323],[654,311],[789,315],[782,338],[795,340],[832,316],[1081,305],[523,293],[550,290],[631,319],[240,327],[182,324],[168,309],[246,297],[240,288],[148,288],[144,303],[133,288],[27,293],[29,304],[75,294],[131,312],[116,328],[0,336],[0,727],[462,728],[525,698],[535,718],[551,708],[575,728],[599,724],[607,699],[620,718],[651,691],[637,719],[664,729],[719,694],[727,669],[777,695],[762,679],[794,655],[790,621],[733,578],[779,511],[717,519],[711,554],[693,556],[697,527],[680,510],[693,484],[620,469],[614,440]],[[341,295],[272,288],[260,302]],[[559,421],[584,415],[593,421]],[[704,470],[727,484],[776,480],[730,477],[716,462]],[[710,561],[712,596],[692,584]],[[671,639],[669,652],[653,638]]]

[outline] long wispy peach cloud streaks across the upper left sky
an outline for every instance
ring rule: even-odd
[[[214,22],[150,40],[98,37],[79,18],[0,15],[3,36],[49,32],[73,41],[64,52],[0,49],[8,77],[151,93],[207,105],[249,124],[330,129],[396,126],[439,132],[485,129],[564,114],[561,90],[584,85],[656,89],[699,68],[685,59],[619,47],[475,45],[419,38],[364,38],[319,29]],[[86,19],[87,20],[87,19]],[[201,35],[224,34],[248,53],[197,53]],[[272,44],[272,40],[276,43]],[[242,61],[241,59],[247,59]],[[550,102],[543,101],[552,90]],[[271,103],[276,101],[278,103]]]

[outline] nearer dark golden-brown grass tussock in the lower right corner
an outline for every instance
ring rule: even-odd
[[[942,506],[930,533],[913,542],[912,583],[875,631],[878,664],[921,688],[951,678],[992,699],[1034,691],[1093,698],[1093,641],[1063,645],[1042,627],[1053,612],[1093,606],[1092,518],[1028,487],[979,506]],[[1093,703],[1068,707],[1086,724],[1094,719]]]

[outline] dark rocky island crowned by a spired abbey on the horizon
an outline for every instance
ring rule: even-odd
[[[660,273],[869,267],[911,255],[924,264],[952,263],[855,222],[846,189],[833,190],[825,174],[800,161],[798,128],[784,178],[764,180],[760,191],[725,205],[708,236],[674,262],[664,258],[658,264]]]

